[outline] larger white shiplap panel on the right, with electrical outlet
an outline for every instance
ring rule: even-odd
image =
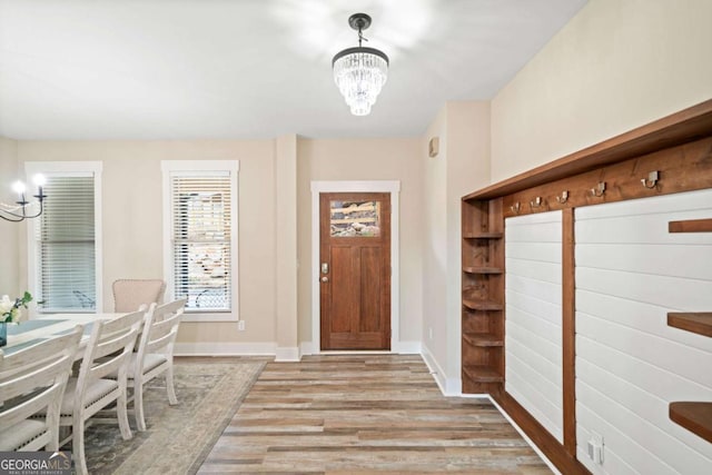
[[[712,338],[666,325],[712,310],[712,234],[668,222],[710,217],[712,190],[575,211],[577,457],[594,474],[712,474],[712,444],[668,417],[671,402],[712,402]]]

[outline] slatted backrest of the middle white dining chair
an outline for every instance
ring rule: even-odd
[[[127,362],[144,320],[144,311],[137,310],[110,320],[97,320],[85,350],[79,369],[76,392],[77,404],[85,397],[85,389],[95,380],[111,373],[126,377]]]

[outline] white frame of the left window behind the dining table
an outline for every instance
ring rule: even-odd
[[[81,308],[72,308],[72,314],[95,314],[103,310],[103,237],[102,237],[102,202],[101,202],[101,175],[103,170],[103,164],[101,161],[27,161],[24,164],[26,179],[30,182],[31,177],[37,174],[56,177],[78,177],[78,176],[93,176],[93,232],[95,232],[95,288],[96,288],[96,307],[93,310],[87,310]],[[47,197],[48,200],[52,199],[51,196]],[[39,219],[29,219],[27,228],[27,277],[28,277],[28,290],[36,298],[41,298],[39,293],[39,277],[40,274],[37,268],[39,265],[37,259],[37,227],[40,224]],[[37,308],[36,305],[30,307],[30,318],[37,315],[53,315],[67,313],[66,310],[42,310]]]

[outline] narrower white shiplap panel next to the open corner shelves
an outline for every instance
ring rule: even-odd
[[[562,214],[505,220],[505,389],[560,442]]]

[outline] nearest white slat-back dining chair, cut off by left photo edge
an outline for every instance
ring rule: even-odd
[[[0,452],[59,449],[59,407],[81,334],[77,326],[9,355],[0,350]]]

